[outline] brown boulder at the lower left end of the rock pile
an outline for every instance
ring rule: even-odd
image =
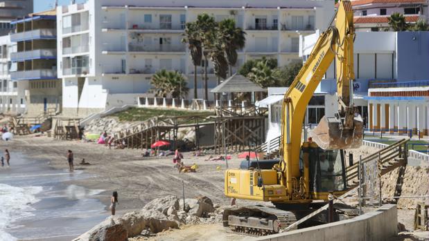
[[[125,241],[128,231],[123,224],[108,224],[89,235],[89,241]]]

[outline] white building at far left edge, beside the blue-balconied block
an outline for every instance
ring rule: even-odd
[[[10,42],[10,35],[0,37],[0,113],[21,114],[26,110],[28,84],[10,80],[10,71],[17,68],[10,61],[10,53],[16,49],[17,44]]]

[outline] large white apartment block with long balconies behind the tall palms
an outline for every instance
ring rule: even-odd
[[[187,21],[208,13],[233,18],[246,35],[234,70],[248,59],[273,57],[279,66],[298,57],[299,35],[324,29],[334,1],[137,1],[89,0],[57,8],[58,77],[64,115],[134,104],[150,90],[151,76],[178,70],[193,79],[189,50],[181,39]],[[204,61],[202,66],[204,65]],[[198,68],[202,96],[202,66]],[[209,88],[216,86],[209,63]],[[189,88],[194,88],[189,81]],[[211,98],[213,98],[211,96]]]

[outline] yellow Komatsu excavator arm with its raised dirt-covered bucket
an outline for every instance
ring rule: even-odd
[[[292,178],[299,177],[301,133],[308,102],[335,59],[339,109],[334,117],[322,117],[313,141],[324,149],[357,148],[362,144],[362,119],[354,112],[351,81],[353,73],[353,11],[350,1],[340,1],[335,25],[317,40],[313,51],[283,99],[281,169],[286,175],[288,195],[294,192]],[[308,190],[308,180],[306,180]]]

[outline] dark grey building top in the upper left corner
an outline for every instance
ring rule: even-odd
[[[22,19],[33,12],[33,0],[2,0],[0,1],[0,36],[13,32],[15,19]]]

